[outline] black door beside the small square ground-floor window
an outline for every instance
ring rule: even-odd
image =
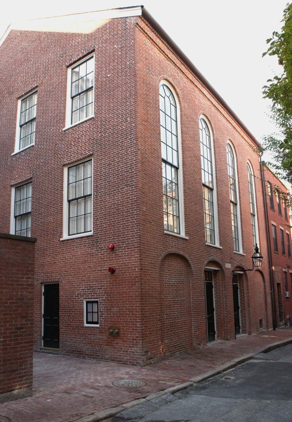
[[[43,347],[59,349],[59,284],[44,284]]]

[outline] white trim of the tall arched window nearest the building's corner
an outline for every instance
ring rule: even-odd
[[[185,211],[184,211],[183,178],[182,178],[182,132],[181,132],[181,123],[180,123],[179,100],[177,98],[174,87],[172,87],[167,81],[164,81],[164,80],[161,81],[159,84],[159,88],[161,87],[161,85],[166,85],[166,87],[170,89],[171,94],[174,96],[174,100],[177,106],[177,143],[178,143],[178,154],[179,154],[179,168],[177,169],[178,190],[179,190],[179,236],[187,237],[185,236]],[[159,103],[158,103],[158,106],[159,106]],[[161,175],[161,178],[162,178],[162,175]],[[168,233],[178,234],[178,233],[169,232],[167,230],[166,232],[167,234]]]

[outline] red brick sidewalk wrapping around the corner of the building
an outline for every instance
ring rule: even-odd
[[[194,352],[143,368],[113,362],[35,353],[32,397],[0,404],[0,415],[12,422],[68,422],[182,384],[223,363],[281,340],[281,329],[218,341]],[[139,379],[144,387],[114,387],[119,379]]]

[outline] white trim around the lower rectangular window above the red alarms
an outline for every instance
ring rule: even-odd
[[[92,195],[92,230],[91,232],[85,232],[85,233],[78,233],[75,235],[69,235],[68,234],[68,219],[69,219],[69,203],[68,203],[68,168],[72,167],[72,165],[77,165],[80,164],[81,162],[85,162],[88,160],[92,160],[92,165],[91,165],[91,195]],[[79,238],[79,237],[84,237],[84,236],[90,236],[93,235],[93,198],[94,198],[94,194],[93,194],[93,157],[86,157],[83,158],[82,160],[78,160],[75,162],[72,162],[70,164],[66,164],[64,166],[64,181],[63,181],[63,236],[62,238],[60,238],[60,241],[64,241],[64,240],[68,240],[68,239],[74,239],[74,238]],[[89,299],[88,299],[89,300]]]

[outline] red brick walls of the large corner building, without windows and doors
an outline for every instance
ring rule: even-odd
[[[145,15],[100,21],[89,32],[12,30],[1,46],[4,74],[14,72],[1,81],[7,95],[0,159],[7,166],[0,170],[0,230],[10,227],[11,186],[32,180],[31,233],[38,238],[35,350],[42,347],[43,284],[52,282],[60,288],[62,354],[145,365],[206,345],[206,268],[214,277],[217,339],[235,338],[232,270],[238,271],[241,333],[272,326],[258,143],[150,23]],[[15,46],[22,46],[17,56]],[[92,51],[94,117],[63,130],[67,66]],[[163,230],[161,81],[173,88],[180,109],[185,237]],[[11,155],[17,98],[34,87],[35,145]],[[201,115],[214,142],[219,247],[205,241]],[[239,254],[233,252],[227,141],[237,162]],[[93,235],[61,241],[64,166],[88,157],[93,157]],[[254,252],[247,161],[254,173],[263,254],[263,267],[249,272],[242,271],[251,268]],[[114,274],[107,271],[110,265]],[[84,300],[97,298],[99,327],[87,327]],[[109,327],[119,327],[120,335],[109,336]]]

